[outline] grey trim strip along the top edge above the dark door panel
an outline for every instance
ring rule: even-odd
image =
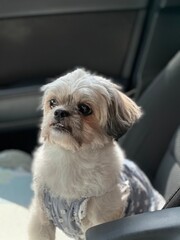
[[[0,0],[0,18],[146,8],[148,0]]]

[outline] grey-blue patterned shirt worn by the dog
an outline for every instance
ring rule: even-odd
[[[124,161],[119,182],[130,188],[124,216],[159,210],[163,206],[163,197],[132,161]],[[81,220],[86,216],[87,202],[88,198],[66,201],[60,197],[53,197],[48,189],[44,189],[44,206],[49,220],[74,239],[83,239]]]

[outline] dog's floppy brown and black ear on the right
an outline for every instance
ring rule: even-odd
[[[111,89],[110,96],[106,132],[117,140],[141,117],[142,111],[117,88]]]

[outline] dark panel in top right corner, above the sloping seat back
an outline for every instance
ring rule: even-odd
[[[179,23],[179,0],[150,0],[149,14],[133,77],[138,85],[137,97],[180,49]]]

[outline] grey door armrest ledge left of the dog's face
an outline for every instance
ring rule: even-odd
[[[39,86],[0,90],[0,132],[37,126],[40,112]]]

